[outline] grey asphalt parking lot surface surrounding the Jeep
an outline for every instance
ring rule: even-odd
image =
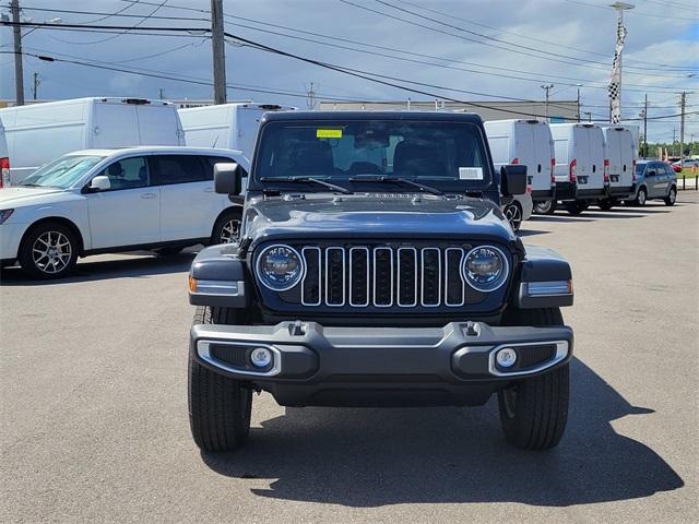
[[[0,522],[698,522],[699,195],[524,224],[571,263],[568,429],[510,449],[476,408],[283,408],[194,446],[193,254],[100,255],[0,288]]]

